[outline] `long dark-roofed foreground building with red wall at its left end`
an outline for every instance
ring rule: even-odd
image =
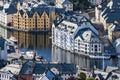
[[[65,80],[70,76],[75,76],[75,74],[75,64],[41,63],[28,61],[23,64],[23,67],[18,76],[18,80],[52,80],[53,78],[59,77],[62,78],[62,80]]]

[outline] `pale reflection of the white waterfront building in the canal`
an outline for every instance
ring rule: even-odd
[[[106,66],[116,66],[114,61],[110,63],[109,59],[95,59],[88,56],[71,53],[52,45],[52,61],[59,63],[75,63],[81,68],[92,69],[94,66],[104,69]]]

